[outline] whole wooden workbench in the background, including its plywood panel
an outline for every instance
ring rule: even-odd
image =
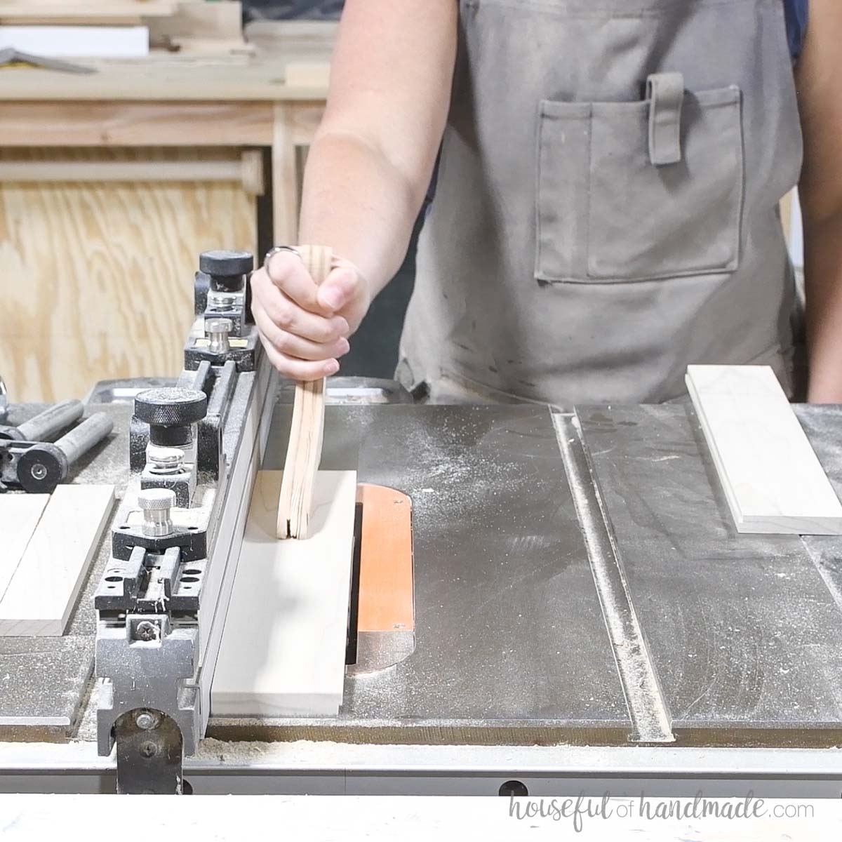
[[[0,360],[14,399],[81,397],[92,378],[177,374],[191,319],[178,279],[195,254],[219,242],[255,253],[296,242],[301,149],[321,120],[327,56],[295,57],[0,70],[12,314]],[[296,67],[300,83],[290,84]],[[125,306],[134,296],[166,302],[154,323]]]

